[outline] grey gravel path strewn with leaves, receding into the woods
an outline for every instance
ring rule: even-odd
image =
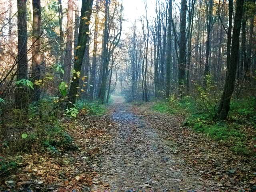
[[[112,140],[100,153],[99,178],[93,191],[205,191],[196,172],[173,154],[160,130],[146,124],[131,106],[116,102],[110,116]]]

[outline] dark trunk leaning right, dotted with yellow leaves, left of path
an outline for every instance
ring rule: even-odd
[[[89,32],[89,25],[86,22],[90,21],[90,17],[92,14],[92,3],[93,0],[82,0],[82,9],[81,9],[81,20],[79,26],[79,33],[78,33],[78,46],[80,48],[76,51],[75,62],[74,62],[74,70],[76,73],[73,75],[73,80],[70,85],[70,92],[69,92],[69,101],[68,106],[72,106],[72,104],[76,103],[76,97],[78,94],[78,85],[79,85],[79,72],[81,71],[82,61],[84,57],[84,52],[86,48],[86,42],[89,38],[89,35],[86,32]],[[87,19],[82,19],[87,18]],[[76,77],[76,78],[74,78]]]

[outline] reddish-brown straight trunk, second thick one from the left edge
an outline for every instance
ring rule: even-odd
[[[41,2],[40,0],[33,0],[33,24],[32,24],[32,74],[31,79],[33,81],[40,80],[41,76],[41,64],[42,64],[42,56],[40,53],[41,49]],[[33,100],[38,101],[40,99],[40,88],[35,84],[33,91]]]

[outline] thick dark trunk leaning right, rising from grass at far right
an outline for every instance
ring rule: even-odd
[[[234,18],[234,29],[232,35],[232,46],[230,53],[230,61],[227,60],[227,74],[224,90],[220,100],[220,106],[218,109],[218,116],[220,119],[226,119],[230,109],[230,99],[232,97],[235,80],[236,80],[236,68],[238,63],[238,50],[239,50],[239,36],[241,30],[241,21],[243,14],[244,0],[236,1],[236,14]]]

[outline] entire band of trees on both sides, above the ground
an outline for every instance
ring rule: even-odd
[[[81,16],[78,0],[29,0],[32,14],[17,0],[17,15],[12,1],[0,14],[0,96],[17,108],[45,97],[73,107],[112,93],[147,102],[214,88],[224,119],[233,93],[255,95],[255,0],[145,0],[125,33],[122,0],[83,0]]]

